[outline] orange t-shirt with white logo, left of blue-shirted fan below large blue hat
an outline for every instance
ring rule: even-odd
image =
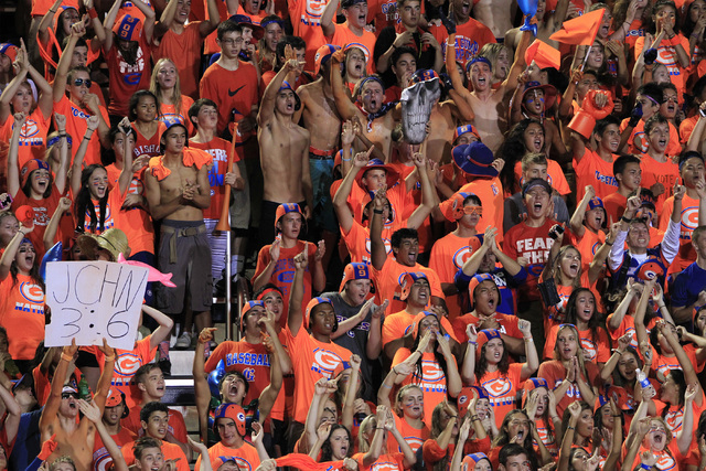
[[[463,268],[466,260],[473,255],[469,247],[468,237],[459,237],[453,233],[441,237],[431,246],[429,268],[437,272],[442,283],[453,283],[453,277]],[[461,315],[461,299],[458,295],[447,296],[446,306],[449,309],[449,319]]]

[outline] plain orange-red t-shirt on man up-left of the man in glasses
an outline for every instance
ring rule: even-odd
[[[222,17],[221,19],[225,20],[226,18],[227,17]],[[167,30],[167,33],[158,40],[159,44],[152,47],[152,61],[154,61],[154,64],[162,57],[169,57],[174,62],[176,71],[179,72],[181,93],[191,98],[199,97],[196,82],[199,81],[201,44],[203,43],[201,32],[199,31],[201,21],[192,21],[184,25],[184,31],[181,34],[176,34],[170,28]]]

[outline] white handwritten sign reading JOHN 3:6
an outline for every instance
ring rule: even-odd
[[[132,350],[148,269],[111,261],[46,264],[51,323],[45,346],[103,345]]]

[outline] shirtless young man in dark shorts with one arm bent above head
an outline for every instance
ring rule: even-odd
[[[289,60],[275,75],[263,96],[257,115],[257,141],[265,181],[260,211],[260,239],[275,239],[275,214],[281,203],[298,202],[306,218],[311,217],[313,192],[309,172],[309,131],[292,117],[301,106],[299,96],[285,82],[288,73],[299,67]]]

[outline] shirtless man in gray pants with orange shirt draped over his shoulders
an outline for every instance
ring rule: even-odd
[[[203,210],[211,205],[212,158],[188,148],[186,136],[180,121],[167,128],[160,138],[164,154],[150,159],[145,186],[152,218],[162,221],[157,266],[176,285],[160,287],[157,303],[169,315],[184,312],[182,332],[191,334],[194,320],[199,331],[211,327],[213,279]]]

